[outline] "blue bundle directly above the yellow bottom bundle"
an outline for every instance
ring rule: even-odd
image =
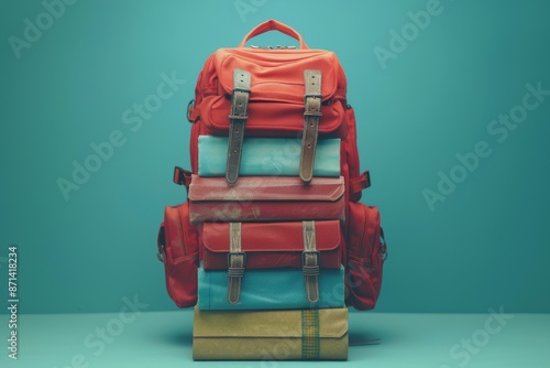
[[[237,304],[228,302],[228,271],[208,270],[202,266],[198,274],[198,303],[209,310],[294,310],[344,306],[344,269],[321,269],[319,301],[310,303],[306,294],[301,269],[245,270],[241,281],[241,297]]]

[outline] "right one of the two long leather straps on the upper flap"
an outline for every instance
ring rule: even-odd
[[[321,119],[321,72],[305,71],[304,78],[306,84],[304,104],[306,108],[301,139],[300,178],[305,183],[309,183],[314,177],[315,151],[319,133],[319,120]]]

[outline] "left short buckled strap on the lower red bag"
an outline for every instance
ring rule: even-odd
[[[244,275],[246,255],[241,250],[241,223],[229,224],[228,301],[237,304],[241,296],[241,280]]]

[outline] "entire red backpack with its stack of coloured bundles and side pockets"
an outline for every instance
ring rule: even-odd
[[[277,30],[300,47],[245,47]],[[270,20],[206,62],[187,201],[165,209],[168,294],[195,306],[194,359],[346,359],[348,306],[373,309],[386,246],[361,204],[353,109],[332,52]]]

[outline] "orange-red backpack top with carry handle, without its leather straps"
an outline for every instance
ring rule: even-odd
[[[272,22],[276,25],[264,26]],[[261,31],[256,32],[257,29]],[[290,28],[275,21],[262,23],[251,33],[257,35],[270,30],[297,35]],[[320,72],[322,102],[319,133],[344,137],[346,131],[342,122],[346,106],[346,79],[336,54],[307,48],[301,41],[302,48],[297,50],[249,48],[244,47],[249,36],[239,47],[220,48],[208,57],[197,80],[189,121],[195,122],[200,117],[202,129],[206,129],[202,133],[228,133],[235,85],[233,72],[240,69],[250,75],[245,134],[296,137],[304,129],[306,71],[317,71]],[[299,35],[296,37],[301,40]]]

